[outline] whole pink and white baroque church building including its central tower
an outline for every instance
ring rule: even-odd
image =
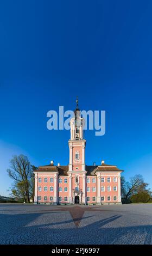
[[[77,107],[71,119],[69,164],[53,161],[35,172],[35,204],[121,204],[121,173],[116,165],[85,162],[85,120]]]

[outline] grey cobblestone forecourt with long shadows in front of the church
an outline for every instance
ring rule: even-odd
[[[0,204],[0,244],[152,244],[152,204]]]

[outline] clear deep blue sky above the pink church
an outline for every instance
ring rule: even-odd
[[[105,160],[152,188],[151,1],[1,1],[0,194],[14,154],[36,166],[68,164],[69,131],[47,112],[106,111],[106,133],[87,130],[86,164]]]

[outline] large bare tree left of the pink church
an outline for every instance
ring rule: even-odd
[[[30,202],[30,179],[32,168],[27,156],[14,156],[10,160],[10,169],[7,170],[11,179],[14,179],[12,192],[22,194],[26,203]]]

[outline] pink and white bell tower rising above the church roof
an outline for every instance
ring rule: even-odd
[[[78,97],[74,117],[70,121],[71,139],[69,145],[69,171],[85,170],[85,145],[84,119],[81,118],[81,111],[78,106]]]

